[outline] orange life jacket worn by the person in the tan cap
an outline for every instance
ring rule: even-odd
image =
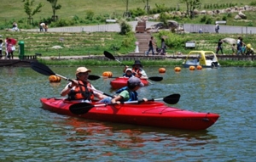
[[[85,87],[82,85],[84,85]],[[68,99],[88,99],[92,101],[94,99],[93,91],[87,87],[91,87],[90,82],[84,83],[83,81],[79,81],[79,86],[75,87],[75,89],[71,90],[68,93]]]

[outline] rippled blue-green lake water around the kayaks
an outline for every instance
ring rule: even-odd
[[[93,75],[120,67],[87,67]],[[39,98],[60,97],[67,81],[49,83],[30,68],[0,68],[0,161],[256,161],[256,68],[174,72],[138,90],[141,98],[180,93],[174,107],[220,115],[207,131],[181,131],[84,120],[41,109]],[[73,78],[76,67],[51,66]],[[111,80],[92,81],[113,94]]]

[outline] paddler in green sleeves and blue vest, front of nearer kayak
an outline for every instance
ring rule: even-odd
[[[127,87],[123,87],[119,89],[116,93],[118,93],[118,96],[115,96],[114,98],[104,98],[98,103],[123,103],[126,101],[137,101],[137,90],[140,87],[144,87],[142,81],[137,77],[131,77],[127,81]],[[143,101],[148,101],[147,98],[143,98]]]

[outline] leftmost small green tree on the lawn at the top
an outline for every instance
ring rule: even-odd
[[[36,6],[35,8],[33,7],[33,3],[35,2],[35,0],[23,0],[22,3],[24,3],[24,9],[25,9],[25,13],[28,15],[27,18],[27,22],[28,24],[32,24],[32,16],[35,14],[38,14],[41,12],[40,8],[43,7],[42,3],[39,3],[38,6]]]

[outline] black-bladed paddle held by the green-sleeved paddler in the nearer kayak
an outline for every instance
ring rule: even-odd
[[[148,101],[157,101],[157,100],[163,100],[166,103],[169,104],[176,104],[179,101],[180,94],[171,94],[169,96],[166,96],[165,98],[152,98],[148,99]],[[124,102],[122,104],[127,104],[127,103],[143,103],[143,100],[138,100],[138,101],[128,101]],[[107,105],[113,105],[116,103],[101,103],[101,104],[92,104],[92,103],[74,103],[69,107],[69,110],[74,114],[74,115],[84,115],[90,109],[94,107],[101,107],[101,106],[107,106]]]

